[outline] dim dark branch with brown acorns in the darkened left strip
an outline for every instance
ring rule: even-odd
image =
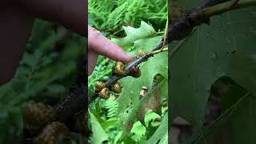
[[[86,67],[86,59],[79,59],[76,84],[56,104],[50,106],[42,102],[26,102],[22,109],[24,143],[68,143],[73,140],[84,143],[82,135],[87,133],[87,119],[86,114],[82,118],[82,112],[87,105]],[[60,136],[64,140],[59,142]]]

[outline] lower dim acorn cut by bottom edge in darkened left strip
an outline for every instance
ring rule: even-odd
[[[38,137],[34,138],[34,144],[69,144],[70,130],[62,122],[51,122],[43,128]]]

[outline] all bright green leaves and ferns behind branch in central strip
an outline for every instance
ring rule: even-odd
[[[166,26],[166,1],[88,1],[89,24],[102,31],[131,55],[150,51],[162,38]],[[92,143],[167,143],[168,54],[158,54],[140,65],[140,78],[122,78],[121,94],[108,100],[96,99],[89,106]],[[114,62],[99,57],[89,77],[89,92],[94,83],[111,77]],[[157,78],[156,86],[151,89]],[[142,86],[148,92],[140,96]]]

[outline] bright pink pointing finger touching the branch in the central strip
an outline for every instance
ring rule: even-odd
[[[98,54],[102,54],[115,61],[130,62],[132,58],[122,48],[108,38],[104,37],[98,30],[88,26],[88,46]]]

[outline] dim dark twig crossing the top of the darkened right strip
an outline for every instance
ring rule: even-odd
[[[219,3],[220,2],[220,3]],[[217,4],[217,5],[214,5]],[[186,38],[194,27],[207,23],[210,25],[210,17],[236,10],[247,6],[255,6],[256,0],[206,0],[201,6],[193,10],[190,14],[179,18],[172,23],[168,30],[168,42],[182,40]]]

